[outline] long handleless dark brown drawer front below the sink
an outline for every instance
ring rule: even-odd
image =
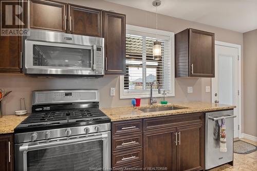
[[[204,122],[203,113],[188,113],[175,116],[144,119],[144,131],[177,126],[191,125]]]

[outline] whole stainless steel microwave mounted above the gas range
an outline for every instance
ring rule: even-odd
[[[53,31],[33,30],[23,38],[23,71],[35,75],[104,74],[104,39]]]

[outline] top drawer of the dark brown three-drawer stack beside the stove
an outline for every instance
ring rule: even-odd
[[[113,122],[112,132],[113,136],[142,132],[142,120]]]

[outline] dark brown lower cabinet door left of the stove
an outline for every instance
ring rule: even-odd
[[[13,170],[13,136],[0,136],[0,170]]]

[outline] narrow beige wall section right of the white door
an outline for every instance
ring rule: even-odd
[[[257,29],[244,33],[244,133],[257,137]]]

